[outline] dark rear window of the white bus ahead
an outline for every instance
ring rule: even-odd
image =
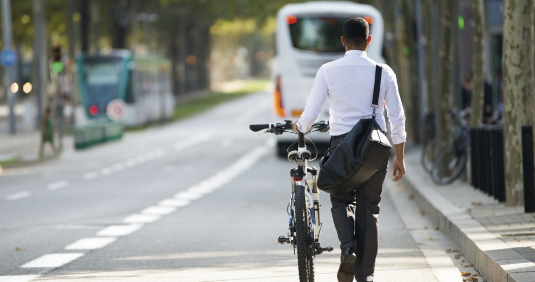
[[[315,52],[345,52],[340,36],[343,23],[350,17],[295,18],[288,22],[293,47]]]

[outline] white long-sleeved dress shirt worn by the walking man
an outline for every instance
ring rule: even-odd
[[[396,75],[388,65],[383,64],[379,90],[379,108],[376,120],[386,131],[383,111],[386,108],[394,144],[406,141],[405,113],[398,90]],[[348,133],[359,120],[371,118],[373,107],[373,85],[376,63],[366,56],[365,51],[349,50],[343,58],[326,63],[319,68],[314,86],[307,99],[307,105],[297,121],[301,132],[307,132],[318,119],[325,100],[330,106],[330,134],[337,136]]]

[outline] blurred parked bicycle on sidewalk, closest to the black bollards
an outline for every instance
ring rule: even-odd
[[[431,179],[437,185],[452,183],[461,176],[467,165],[469,136],[465,117],[469,112],[454,109],[449,114],[458,124],[458,131],[454,132],[453,144],[439,151],[434,159]]]

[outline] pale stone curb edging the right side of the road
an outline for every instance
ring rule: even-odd
[[[428,174],[419,164],[417,150],[406,156],[408,171],[403,183],[414,194],[419,207],[437,227],[462,251],[488,281],[496,282],[533,282],[535,272],[507,271],[508,264],[531,265],[516,250],[486,230],[472,218],[469,210],[460,208],[442,196],[437,189],[447,189],[434,185]],[[466,185],[469,188],[468,185]],[[535,271],[535,269],[533,270]]]

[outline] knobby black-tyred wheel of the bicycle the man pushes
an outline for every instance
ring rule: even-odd
[[[314,282],[314,237],[311,237],[310,214],[304,187],[299,185],[294,190],[295,241],[297,245],[297,268],[300,282]]]

